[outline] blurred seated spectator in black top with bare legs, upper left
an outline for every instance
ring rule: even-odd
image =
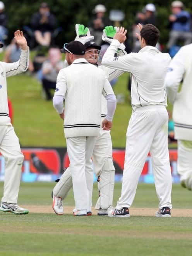
[[[56,25],[55,15],[50,13],[47,3],[41,3],[39,12],[33,14],[31,27],[34,30],[36,41],[43,46],[51,43],[51,33]]]

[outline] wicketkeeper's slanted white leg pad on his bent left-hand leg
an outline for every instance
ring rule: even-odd
[[[53,195],[65,199],[72,186],[71,168],[68,167],[59,182],[55,185]]]

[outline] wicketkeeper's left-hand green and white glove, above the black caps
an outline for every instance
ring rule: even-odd
[[[82,24],[76,24],[75,25],[75,31],[76,31],[76,38],[75,41],[81,42],[83,45],[87,43],[88,41],[93,41],[94,36],[91,36],[89,28],[85,27]]]

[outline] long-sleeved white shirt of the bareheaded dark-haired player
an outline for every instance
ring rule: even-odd
[[[120,45],[113,40],[101,62],[102,65],[131,73],[131,104],[133,110],[147,105],[167,105],[165,75],[171,62],[168,53],[145,46],[138,53],[114,57]]]

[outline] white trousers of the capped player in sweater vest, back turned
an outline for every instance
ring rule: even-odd
[[[97,137],[67,138],[67,153],[72,173],[75,208],[89,210],[93,191],[91,156]]]

